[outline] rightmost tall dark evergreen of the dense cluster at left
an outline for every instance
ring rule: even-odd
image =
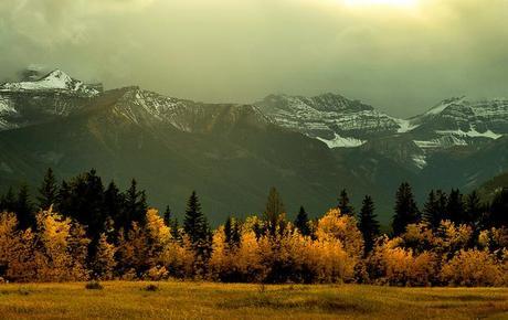
[[[145,225],[145,214],[148,205],[146,201],[145,191],[138,191],[137,181],[135,179],[130,182],[130,188],[125,193],[125,207],[123,211],[124,230],[130,228],[133,222]]]

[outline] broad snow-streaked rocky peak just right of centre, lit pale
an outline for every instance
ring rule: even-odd
[[[406,132],[412,124],[341,95],[271,95],[256,105],[276,124],[317,138],[330,148],[360,147],[372,137]]]

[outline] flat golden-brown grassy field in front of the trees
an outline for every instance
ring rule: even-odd
[[[0,285],[1,319],[508,319],[508,289],[209,282]]]

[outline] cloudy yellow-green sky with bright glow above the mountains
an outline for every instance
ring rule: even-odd
[[[394,116],[508,97],[508,0],[1,0],[0,79],[35,64],[201,102],[337,93]]]

